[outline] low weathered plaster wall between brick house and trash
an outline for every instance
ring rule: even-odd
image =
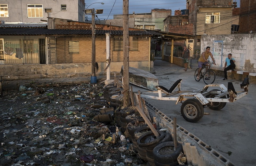
[[[110,73],[119,73],[123,62],[110,63]],[[106,63],[98,63],[96,76],[106,75]],[[153,70],[153,61],[129,62],[130,67]],[[79,64],[3,64],[0,65],[0,76],[3,80],[37,79],[37,78],[71,78],[91,75],[91,63]]]

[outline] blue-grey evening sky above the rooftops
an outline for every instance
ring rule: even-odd
[[[239,7],[240,0],[236,1]],[[123,14],[123,0],[84,0],[84,2],[86,8],[103,9],[103,14],[97,15],[99,20],[113,19],[114,14]],[[101,2],[104,4],[102,5]],[[155,8],[170,9],[174,15],[175,10],[186,9],[186,0],[129,0],[129,14],[150,13]],[[87,17],[91,20],[90,15]]]

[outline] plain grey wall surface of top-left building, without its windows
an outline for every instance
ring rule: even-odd
[[[47,20],[48,14],[45,8],[52,8],[49,17],[65,18],[82,22],[84,15],[83,0],[0,0],[0,4],[8,4],[9,17],[1,17],[5,22],[42,22]],[[43,5],[42,18],[28,18],[27,4]],[[61,11],[61,4],[67,5],[67,11]]]

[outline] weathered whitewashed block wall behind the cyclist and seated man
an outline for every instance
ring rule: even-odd
[[[256,72],[256,34],[202,35],[201,52],[211,47],[217,66],[224,67],[227,54],[236,60],[236,69]]]

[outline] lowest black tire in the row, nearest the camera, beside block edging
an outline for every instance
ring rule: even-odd
[[[176,162],[178,156],[180,155],[180,152],[182,152],[182,144],[177,143],[177,149],[174,153],[172,154],[164,154],[161,155],[159,154],[159,151],[164,148],[164,147],[174,147],[174,143],[172,141],[169,142],[163,142],[161,144],[158,144],[154,149],[153,149],[153,158],[155,161],[161,161],[162,164],[167,164],[170,162]]]

